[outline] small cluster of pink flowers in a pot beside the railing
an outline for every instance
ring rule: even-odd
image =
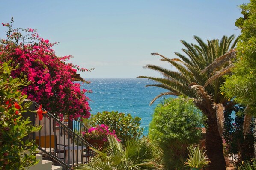
[[[98,139],[98,140],[103,140],[105,142],[107,142],[107,135],[113,135],[117,139],[117,141],[120,141],[116,136],[115,130],[110,132],[108,129],[108,126],[105,124],[96,125],[96,127],[91,127],[88,130],[88,133],[82,132],[82,135],[83,135],[83,138],[85,138],[86,140]]]

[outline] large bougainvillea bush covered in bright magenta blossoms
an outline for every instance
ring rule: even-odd
[[[0,40],[0,63],[12,60],[14,65],[20,64],[12,77],[19,77],[21,72],[27,75],[31,84],[22,90],[28,99],[42,104],[57,118],[88,118],[87,90],[73,83],[77,69],[88,69],[67,63],[72,56],[57,57],[52,49],[57,43],[39,37],[35,29],[12,29],[12,24],[13,19],[10,24],[2,23],[8,31],[6,39]]]

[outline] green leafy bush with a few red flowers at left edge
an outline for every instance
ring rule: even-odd
[[[27,86],[27,78],[12,78],[10,62],[0,63],[0,167],[4,170],[24,170],[37,163],[34,141],[23,141],[29,133],[39,127],[28,125],[30,121],[22,117],[30,103],[20,91]],[[16,67],[16,69],[18,66]],[[23,78],[22,78],[23,77]],[[27,150],[24,152],[24,150]]]

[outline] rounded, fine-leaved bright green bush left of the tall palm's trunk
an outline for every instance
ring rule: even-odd
[[[158,104],[149,124],[149,138],[164,150],[167,170],[184,169],[187,147],[201,137],[202,113],[188,98],[167,99]]]

